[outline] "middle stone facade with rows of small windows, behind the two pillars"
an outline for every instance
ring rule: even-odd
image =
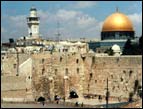
[[[44,61],[42,62],[42,59]],[[43,56],[33,56],[33,81],[35,84],[39,84],[40,78],[49,78],[52,77],[54,79],[54,87],[53,93],[56,95],[64,96],[64,76],[68,76],[68,85],[69,91],[75,89],[77,93],[81,93],[82,89],[82,77],[84,75],[83,72],[83,61],[81,59],[80,54],[58,54],[54,53],[43,54]],[[44,69],[44,70],[43,70]],[[49,83],[46,83],[47,87]],[[37,88],[39,94],[42,91],[43,85],[39,84],[39,88]],[[49,89],[50,90],[50,89]],[[49,90],[44,91],[44,93],[49,92]],[[69,96],[69,93],[67,93]]]

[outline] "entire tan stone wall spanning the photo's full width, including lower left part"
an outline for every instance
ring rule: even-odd
[[[15,61],[11,59],[6,62],[13,65]],[[139,80],[142,85],[141,56],[115,57],[97,56],[95,53],[53,52],[33,54],[26,59],[19,68],[19,76],[9,75],[13,82],[12,79],[7,79],[8,75],[1,76],[3,98],[36,100],[44,96],[53,100],[55,95],[59,95],[67,99],[71,90],[76,91],[80,98],[86,95],[101,95],[104,98],[108,77],[110,98],[128,99],[129,93],[134,91],[135,80]],[[10,67],[6,69],[16,74]],[[9,86],[14,86],[12,88],[15,90]],[[9,94],[5,94],[6,91]],[[20,95],[20,91],[25,94]]]

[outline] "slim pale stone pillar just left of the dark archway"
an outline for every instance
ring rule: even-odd
[[[69,77],[68,76],[64,76],[63,83],[64,83],[64,97],[66,100],[69,97]]]

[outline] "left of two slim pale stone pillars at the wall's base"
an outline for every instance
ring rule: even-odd
[[[50,92],[50,98],[53,101],[54,100],[54,80],[52,77],[49,77],[49,92]]]

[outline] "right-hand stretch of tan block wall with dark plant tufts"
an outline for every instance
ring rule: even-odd
[[[134,90],[135,80],[142,81],[142,57],[121,56],[121,57],[95,57],[93,61],[89,56],[86,59],[85,93],[105,95],[107,77],[110,96],[128,97]],[[90,58],[90,59],[89,59]],[[92,66],[90,65],[92,62]],[[90,72],[92,73],[90,77]],[[88,91],[89,89],[89,91]]]

